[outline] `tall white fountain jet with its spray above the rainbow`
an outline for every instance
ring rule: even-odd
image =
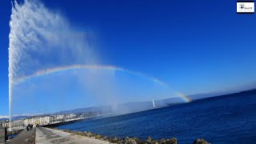
[[[38,1],[12,3],[9,38],[10,120],[14,86],[26,75],[58,66],[96,63],[86,33]]]

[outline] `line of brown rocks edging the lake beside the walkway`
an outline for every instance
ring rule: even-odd
[[[57,128],[53,128],[55,130],[59,130]],[[100,134],[94,134],[91,132],[87,131],[71,131],[71,130],[62,130],[64,132],[70,133],[70,134],[77,134],[77,135],[82,135],[86,136],[89,138],[96,138],[102,141],[106,142],[111,142],[111,143],[118,143],[118,144],[178,144],[177,138],[162,138],[159,140],[154,140],[153,138],[149,137],[146,140],[142,140],[140,138],[117,138],[117,137],[107,137],[107,136],[102,136]],[[198,138],[197,140],[194,141],[194,144],[210,144],[209,142],[206,142],[204,139]]]

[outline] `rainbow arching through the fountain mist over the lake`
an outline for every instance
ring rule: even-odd
[[[71,66],[59,66],[59,67],[54,67],[54,68],[46,69],[46,70],[38,70],[34,74],[26,75],[26,76],[23,76],[22,78],[17,78],[16,81],[14,82],[14,85],[18,85],[19,83],[26,82],[30,78],[37,78],[37,77],[40,77],[40,76],[43,76],[43,75],[54,74],[54,73],[58,73],[60,71],[68,71],[68,70],[114,70],[114,71],[122,71],[122,72],[126,72],[128,74],[137,75],[137,76],[142,77],[142,78],[147,78],[150,81],[158,83],[161,86],[165,86],[165,87],[170,88],[170,86],[168,86],[166,84],[166,82],[162,82],[158,78],[153,78],[153,77],[146,76],[145,74],[142,74],[142,73],[139,73],[139,72],[126,70],[122,67],[101,66],[101,65],[71,65]],[[184,102],[191,102],[192,101],[189,97],[187,97],[185,94],[182,94],[180,92],[178,92],[178,97],[182,98],[182,100],[184,100]]]

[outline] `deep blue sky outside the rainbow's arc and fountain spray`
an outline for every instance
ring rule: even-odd
[[[41,2],[89,34],[102,65],[159,78],[184,94],[256,83],[256,15],[236,14],[234,1]],[[0,114],[8,114],[11,5],[0,6]]]

